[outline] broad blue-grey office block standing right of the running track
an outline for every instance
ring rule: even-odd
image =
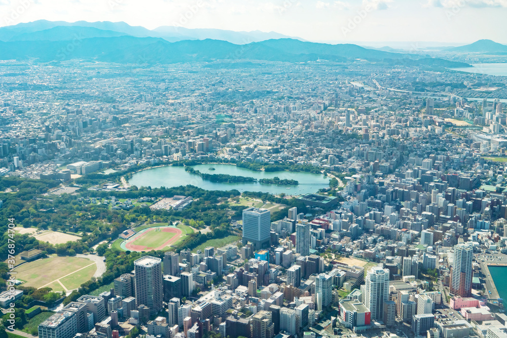
[[[267,209],[248,208],[243,210],[243,244],[251,242],[256,249],[269,247],[271,213]]]

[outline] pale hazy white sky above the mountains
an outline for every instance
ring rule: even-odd
[[[0,0],[0,26],[39,19],[149,29],[276,31],[310,41],[507,44],[507,0]]]

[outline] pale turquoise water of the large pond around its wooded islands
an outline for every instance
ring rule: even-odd
[[[185,171],[185,167],[165,166],[151,168],[135,173],[129,180],[129,184],[140,186],[151,186],[152,188],[165,186],[166,188],[179,185],[195,185],[205,190],[233,190],[239,192],[263,192],[273,195],[284,193],[285,195],[304,195],[316,193],[319,189],[329,186],[329,177],[322,174],[308,172],[265,172],[253,171],[240,168],[231,164],[200,164],[193,166],[195,170],[209,174],[227,174],[232,176],[280,179],[293,179],[299,182],[298,185],[264,184],[259,182],[226,183],[211,182],[204,180],[201,176]],[[212,170],[214,168],[215,170]]]

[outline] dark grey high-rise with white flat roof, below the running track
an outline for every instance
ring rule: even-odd
[[[150,308],[153,315],[162,310],[162,259],[144,256],[134,261],[135,303]]]

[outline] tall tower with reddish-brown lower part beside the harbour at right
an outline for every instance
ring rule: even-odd
[[[472,294],[472,259],[474,250],[468,244],[454,246],[454,260],[451,268],[449,291],[455,296],[469,297]]]

